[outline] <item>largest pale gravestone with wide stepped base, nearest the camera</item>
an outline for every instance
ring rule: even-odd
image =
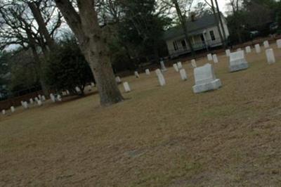
[[[201,93],[221,87],[221,80],[216,79],[214,68],[209,63],[201,67],[196,67],[194,69],[194,77],[195,86],[192,87],[194,93]]]

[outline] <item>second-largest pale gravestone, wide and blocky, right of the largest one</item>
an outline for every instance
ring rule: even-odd
[[[244,51],[237,51],[235,53],[230,53],[229,60],[229,71],[236,72],[239,70],[244,70],[249,67],[246,59],[244,58]]]

